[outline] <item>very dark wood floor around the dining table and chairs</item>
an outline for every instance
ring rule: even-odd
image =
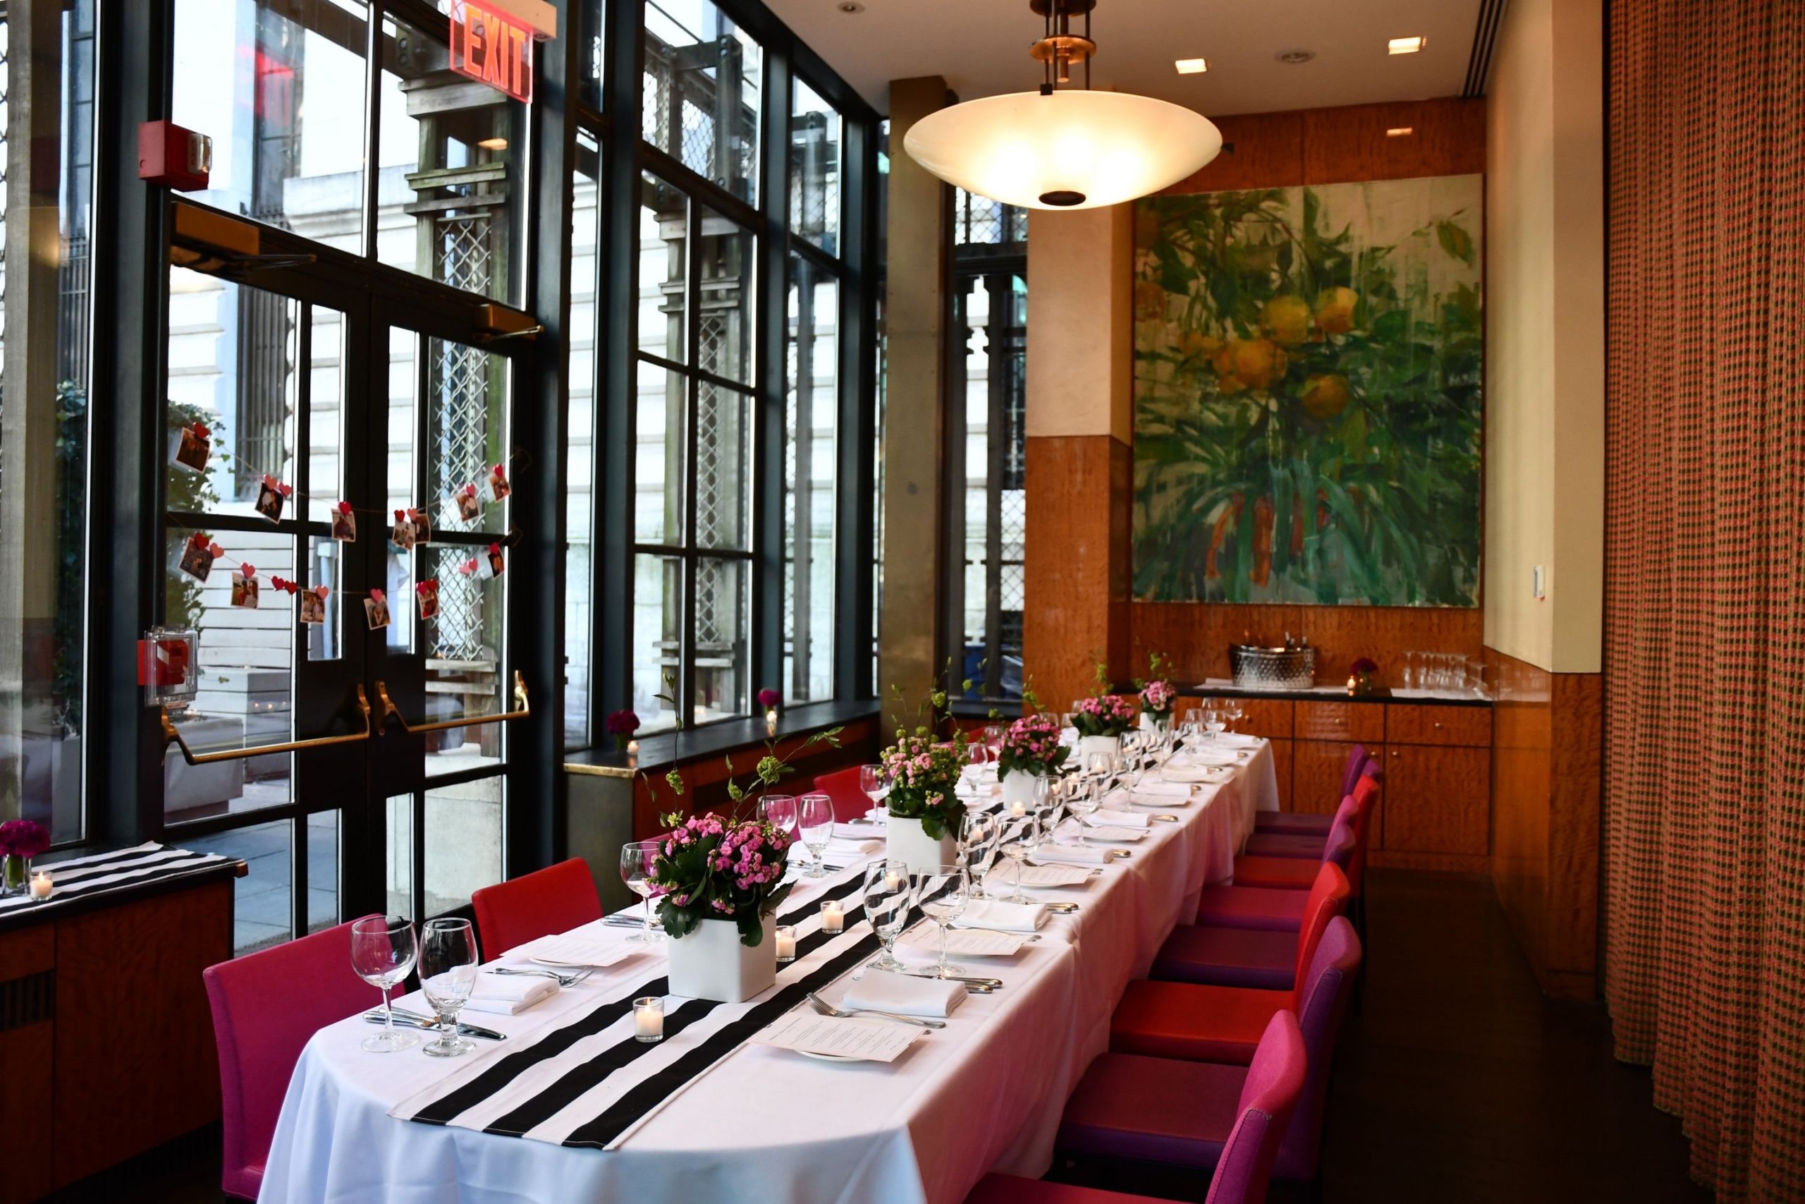
[[[1603,1005],[1541,998],[1487,879],[1374,870],[1368,910],[1365,1007],[1341,1034],[1319,1199],[1711,1199],[1688,1181],[1679,1121],[1650,1103],[1648,1072],[1610,1056]],[[218,1130],[202,1130],[52,1199],[211,1204],[218,1159]],[[1204,1191],[1119,1173],[1112,1186]]]

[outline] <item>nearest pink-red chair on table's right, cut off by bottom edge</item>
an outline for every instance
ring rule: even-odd
[[[1108,1056],[1108,1054],[1105,1054]],[[1260,1038],[1260,1051],[1240,1081],[1233,1110],[1226,1110],[1226,1134],[1217,1144],[1215,1173],[1204,1204],[1260,1204],[1273,1177],[1273,1162],[1307,1081],[1303,1033],[1289,1011],[1276,1013]],[[1087,1076],[1088,1078],[1088,1076]],[[1083,1090],[1083,1088],[1079,1088]],[[1168,1097],[1179,1112],[1197,1110],[1197,1099]],[[1061,1128],[1061,1135],[1063,1135]],[[1146,1200],[1090,1188],[986,1175],[966,1197],[966,1204],[1123,1204]]]

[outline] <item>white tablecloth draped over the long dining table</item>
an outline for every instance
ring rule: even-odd
[[[480,1107],[467,1112],[473,1121],[395,1116],[412,1116],[408,1101],[469,1094],[473,1083],[505,1079],[511,1052],[520,1061],[522,1051],[556,1045],[623,989],[657,980],[661,946],[644,944],[529,1011],[467,1013],[466,1020],[507,1040],[478,1042],[464,1058],[428,1058],[419,1047],[365,1052],[359,1042],[372,1029],[361,1014],[318,1031],[289,1081],[258,1199],[957,1204],[989,1170],[1041,1175],[1067,1096],[1108,1047],[1123,989],[1148,971],[1173,926],[1195,915],[1202,886],[1229,877],[1254,810],[1278,805],[1271,746],[1245,738],[1235,747],[1240,758],[1226,780],[1195,785],[1182,803],[1170,792],[1112,800],[1170,818],[1150,821],[1146,838],[1128,845],[1126,857],[1106,861],[1085,886],[1031,892],[1079,908],[1051,915],[1041,939],[1011,959],[966,959],[971,973],[1004,986],[966,996],[942,1031],[922,1036],[893,1063],[828,1063],[738,1043],[693,1076],[671,1079],[675,1087],[655,1092],[644,1114],[601,1148],[563,1143],[581,1130],[588,1097],[574,1090],[560,1096],[560,1103],[576,1096],[560,1114],[570,1114],[569,1123],[542,1125],[529,1135],[486,1132],[484,1117],[493,1110]],[[798,940],[818,949],[814,960],[847,960],[863,948],[859,940],[870,940],[863,921],[838,937],[816,935],[818,901],[827,894],[856,901],[848,892],[881,856],[868,852],[827,877],[798,879],[782,910],[796,917]],[[1005,883],[1005,870],[993,870],[993,883],[998,874]],[[599,921],[578,931],[630,939],[628,930]],[[913,953],[926,964],[924,949]],[[801,973],[801,960],[780,968],[774,991],[787,975]],[[847,977],[883,973],[865,969],[866,960],[852,959]],[[843,989],[836,980],[821,993],[838,1002]],[[419,996],[412,998],[424,1011]],[[632,1031],[632,1016],[619,1023]],[[565,1058],[583,1058],[583,1049],[574,1045]],[[690,1058],[711,1058],[708,1049],[699,1045]],[[597,1078],[594,1063],[583,1067],[585,1083]]]

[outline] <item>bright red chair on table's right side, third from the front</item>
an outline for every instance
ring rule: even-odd
[[[1110,1016],[1110,1052],[1247,1065],[1274,1013],[1303,1011],[1309,971],[1328,922],[1316,924],[1298,944],[1296,986],[1289,991],[1130,982]]]

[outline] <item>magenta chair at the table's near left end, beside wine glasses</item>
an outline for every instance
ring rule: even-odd
[[[208,966],[200,978],[220,1049],[220,1190],[255,1200],[301,1049],[318,1029],[368,1007],[370,984],[350,968],[350,922]]]

